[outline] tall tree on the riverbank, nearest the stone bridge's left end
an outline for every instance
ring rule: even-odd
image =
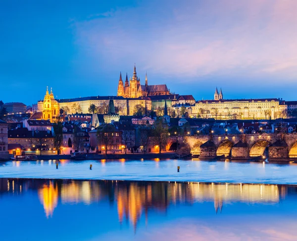
[[[153,130],[154,144],[159,147],[159,154],[165,148],[168,140],[168,126],[163,123],[162,118],[158,118],[154,123]]]

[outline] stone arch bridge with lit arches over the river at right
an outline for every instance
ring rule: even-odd
[[[170,137],[167,149],[176,148],[177,141],[190,147],[191,153],[200,158],[222,155],[232,159],[250,159],[257,156],[270,160],[297,158],[297,133]]]

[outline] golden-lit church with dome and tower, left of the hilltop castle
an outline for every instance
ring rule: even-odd
[[[49,89],[47,87],[47,92],[43,103],[44,106],[42,111],[42,119],[50,120],[51,122],[56,121],[60,115],[60,109],[58,101],[54,99],[51,88],[49,94]]]

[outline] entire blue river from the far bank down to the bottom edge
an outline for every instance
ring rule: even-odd
[[[296,183],[293,163],[0,162],[0,239],[296,241]]]

